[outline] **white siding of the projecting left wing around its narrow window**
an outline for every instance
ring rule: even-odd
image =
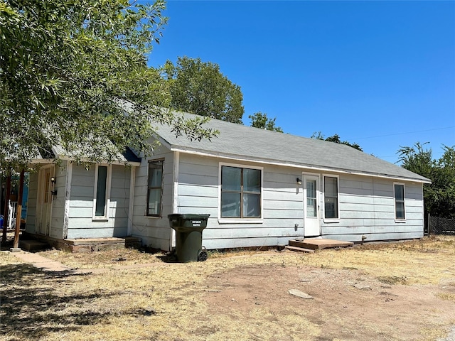
[[[130,169],[112,166],[112,180],[107,221],[94,221],[93,188],[95,166],[73,166],[68,212],[68,238],[125,237],[128,227]],[[62,223],[63,226],[63,223]]]

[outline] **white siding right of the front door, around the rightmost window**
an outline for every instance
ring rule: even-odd
[[[340,175],[340,220],[321,224],[326,238],[360,242],[423,237],[422,185],[405,183],[405,222],[395,222],[393,181]],[[321,203],[323,204],[323,203]]]

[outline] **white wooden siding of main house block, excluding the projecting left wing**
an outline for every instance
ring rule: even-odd
[[[161,218],[145,217],[148,161],[137,169],[133,210],[133,235],[151,247],[168,250],[171,230],[167,215],[210,214],[203,230],[203,245],[208,249],[260,247],[287,244],[304,236],[303,186],[296,184],[302,173],[314,171],[239,161],[240,166],[262,166],[263,188],[261,222],[221,223],[219,215],[219,165],[232,160],[180,153],[177,197],[173,198],[173,153],[161,146],[153,158],[164,158],[164,193]],[[325,172],[324,174],[330,175]],[[405,182],[405,222],[395,222],[393,181],[358,175],[337,174],[339,178],[340,219],[323,222],[323,237],[359,242],[367,240],[418,238],[423,235],[422,185]],[[323,174],[319,174],[323,190]],[[319,197],[323,217],[323,195]],[[297,227],[296,227],[297,226]]]

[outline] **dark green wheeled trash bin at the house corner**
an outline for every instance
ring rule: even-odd
[[[207,251],[202,246],[202,231],[207,227],[210,215],[168,215],[170,226],[176,230],[177,261],[207,260]]]

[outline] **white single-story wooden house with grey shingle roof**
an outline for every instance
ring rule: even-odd
[[[89,170],[41,161],[30,180],[26,231],[53,239],[132,236],[170,250],[168,214],[200,213],[210,214],[207,249],[299,237],[423,237],[429,179],[343,144],[216,119],[204,126],[219,136],[190,141],[160,126],[161,146],[150,158],[127,149],[119,164]]]

